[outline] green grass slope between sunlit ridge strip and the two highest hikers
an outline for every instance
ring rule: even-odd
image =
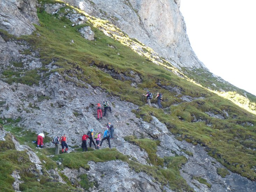
[[[121,99],[126,99],[139,105],[143,104],[141,94],[144,91],[141,88],[145,87],[152,89],[153,93],[158,90],[166,93],[166,98],[170,101],[167,104],[176,102],[173,97],[168,97],[168,91],[157,86],[155,81],[161,81],[164,84],[172,80],[173,86],[183,87],[184,92],[191,96],[209,95],[209,92],[204,89],[196,87],[191,89],[190,83],[185,83],[184,81],[180,83],[180,78],[173,73],[168,73],[162,67],[156,66],[152,62],[138,56],[128,47],[105,36],[92,26],[95,32],[95,41],[93,42],[83,39],[78,33],[77,29],[84,25],[71,27],[68,24],[70,21],[65,18],[63,23],[57,19],[53,19],[56,21],[52,23],[51,18],[53,16],[45,13],[39,13],[38,17],[42,27],[36,27],[43,37],[37,37],[39,42],[35,46],[41,49],[40,56],[45,64],[49,64],[54,59],[56,60],[54,64],[61,67],[52,72],[70,72],[67,73],[70,76],[75,76],[82,81],[89,82],[92,86],[100,86],[112,94],[120,96]],[[63,28],[64,25],[67,25],[66,28]],[[75,44],[70,44],[70,39],[73,39]],[[116,49],[112,49],[108,45],[112,45]],[[120,55],[117,53],[120,53]],[[89,67],[89,64],[92,62],[95,64],[94,67]],[[79,66],[81,71],[74,70],[76,66]],[[122,82],[112,79],[110,75],[103,73],[97,67],[104,67],[116,73],[124,74],[129,74],[130,70],[133,70],[142,77],[143,82],[138,84],[140,89],[136,89],[131,87],[128,81]]]

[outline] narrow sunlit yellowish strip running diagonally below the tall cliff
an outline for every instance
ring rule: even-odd
[[[79,3],[80,8],[83,7],[83,3]],[[72,7],[73,9],[77,10],[78,12],[84,14],[88,22],[90,22],[95,28],[100,29],[104,32],[105,35],[117,40],[118,42],[122,43],[123,45],[130,47],[134,52],[138,53],[140,56],[144,56],[146,59],[152,61],[156,65],[161,65],[164,68],[166,68],[168,71],[173,72],[177,76],[186,79],[197,86],[203,87],[201,84],[196,83],[193,79],[190,79],[188,76],[183,74],[179,69],[174,67],[170,62],[165,60],[164,58],[160,57],[151,47],[148,47],[141,42],[139,42],[137,39],[132,39],[128,35],[124,34],[123,31],[121,31],[119,28],[117,28],[115,25],[111,24],[108,20],[103,20],[100,18],[93,17],[81,10],[76,9],[75,7]],[[236,92],[220,92],[211,90],[209,88],[203,87],[221,97],[224,97],[228,99],[229,101],[232,101],[236,105],[240,106],[241,108],[256,114],[256,104],[254,102],[250,102],[248,98],[237,94]]]

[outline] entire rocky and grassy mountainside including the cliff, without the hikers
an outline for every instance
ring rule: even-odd
[[[179,2],[68,3],[89,15],[63,2],[1,1],[0,189],[254,191],[256,117],[181,78],[176,67],[197,58]],[[161,7],[173,13],[172,37],[155,33],[170,24],[156,22]],[[14,33],[7,27],[14,27],[11,18],[39,25]],[[156,52],[145,46],[152,44]],[[186,54],[178,57],[182,50]],[[195,66],[204,68],[199,61]],[[165,109],[155,101],[153,108],[144,105],[146,89],[163,93]],[[113,112],[98,121],[96,103],[103,99]],[[108,122],[115,126],[112,149],[104,141],[100,150],[82,153],[82,134],[103,132]],[[43,149],[32,143],[40,132],[46,135]],[[64,133],[69,153],[54,155],[50,140]]]

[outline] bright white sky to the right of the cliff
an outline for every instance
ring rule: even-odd
[[[180,10],[198,59],[256,95],[256,0],[181,0]]]

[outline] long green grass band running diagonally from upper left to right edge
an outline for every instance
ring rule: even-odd
[[[145,120],[150,120],[149,112],[151,112],[180,138],[207,146],[210,155],[217,158],[227,168],[255,180],[256,173],[255,167],[253,167],[256,164],[255,150],[253,150],[256,141],[255,126],[242,127],[237,124],[238,121],[249,121],[256,125],[254,115],[240,109],[227,99],[223,99],[202,87],[177,77],[163,67],[153,64],[128,47],[105,36],[103,32],[89,23],[87,25],[90,25],[95,32],[94,41],[88,41],[80,36],[77,29],[85,25],[71,27],[70,21],[66,19],[59,20],[57,19],[58,15],[49,15],[43,10],[39,10],[38,17],[41,26],[36,26],[37,31],[33,35],[17,40],[26,40],[33,49],[38,50],[44,66],[54,61],[54,64],[58,65],[59,68],[52,70],[51,73],[57,71],[65,74],[67,80],[71,80],[68,76],[77,77],[94,87],[99,86],[105,89],[110,95],[117,95],[120,99],[125,99],[140,106],[145,103],[145,98],[141,97],[141,94],[145,93],[145,89],[150,89],[153,93],[161,91],[164,95],[164,107],[181,101],[176,93],[170,93],[160,88],[156,84],[159,82],[162,85],[181,88],[182,95],[206,97],[204,100],[198,99],[191,103],[171,106],[167,111],[170,114],[165,114],[159,109],[149,109],[147,106],[143,106],[137,112],[137,115]],[[64,28],[64,25],[66,28]],[[0,34],[6,40],[13,38],[3,31],[0,31]],[[37,34],[40,34],[40,36],[38,37]],[[74,40],[74,44],[70,42],[71,39]],[[112,49],[108,45],[115,46],[116,49]],[[92,62],[94,62],[93,66],[89,66]],[[19,67],[20,65],[10,67],[9,73],[12,73],[12,71],[19,72]],[[102,72],[100,70],[102,67],[127,75],[129,75],[130,70],[133,70],[141,76],[142,83],[138,84],[138,89],[133,88],[130,86],[130,81],[115,80],[110,75]],[[47,78],[49,74],[45,71],[46,69],[43,67],[32,72],[36,72],[36,74],[43,73],[44,78]],[[2,74],[3,79],[8,83],[16,82],[15,79],[21,75],[10,75],[9,73],[5,71]],[[28,72],[21,76],[27,76],[33,80],[34,78],[30,74],[34,73]],[[38,82],[37,78],[35,78],[35,81],[34,84]],[[29,82],[31,81],[29,80]],[[24,83],[29,84],[27,81],[24,81]],[[222,110],[229,113],[229,117],[225,120],[211,118],[204,113],[212,111],[215,114],[223,114]],[[205,120],[205,122],[191,123],[192,115]],[[233,116],[236,116],[236,119],[233,119]],[[181,117],[184,121],[181,121],[178,117]],[[212,126],[207,126],[207,124]]]

